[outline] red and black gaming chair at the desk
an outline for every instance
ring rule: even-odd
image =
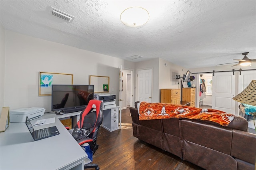
[[[86,109],[84,109],[80,114],[80,120],[74,128],[90,128],[90,135],[87,138],[82,138],[77,140],[78,144],[82,145],[88,143],[90,149],[92,150],[92,155],[98,149],[98,144],[96,143],[98,130],[103,120],[103,110],[102,101],[90,100]],[[97,164],[86,164],[84,168],[95,168],[99,170]]]

